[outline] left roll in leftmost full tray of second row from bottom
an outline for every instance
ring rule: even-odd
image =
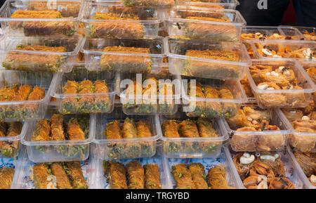
[[[32,141],[48,141],[51,140],[51,125],[48,119],[41,119],[37,122],[33,132]]]

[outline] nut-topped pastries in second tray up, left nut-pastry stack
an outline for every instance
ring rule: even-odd
[[[272,121],[272,111],[256,106],[245,106],[237,110],[234,117],[227,119],[234,151],[277,151],[285,145],[285,137]]]

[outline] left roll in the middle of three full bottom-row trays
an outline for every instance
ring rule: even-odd
[[[128,189],[126,170],[123,164],[113,161],[103,161],[103,169],[107,175],[111,189]]]

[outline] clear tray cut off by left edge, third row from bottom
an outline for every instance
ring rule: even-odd
[[[44,117],[51,91],[55,88],[57,74],[51,72],[28,72],[16,70],[0,70],[0,88],[5,86],[29,85],[45,89],[45,97],[41,100],[17,100],[0,102],[0,118],[6,122],[27,121]]]

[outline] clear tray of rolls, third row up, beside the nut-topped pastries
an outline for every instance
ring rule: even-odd
[[[186,86],[189,85],[189,82],[194,82],[193,80],[195,80],[195,84],[201,84],[202,89],[205,86],[211,86],[215,89],[229,89],[233,99],[190,96],[188,91],[191,90],[186,88]],[[185,84],[185,82],[187,84]],[[193,84],[190,84],[190,86],[194,88]],[[183,107],[186,107],[186,109],[183,108],[183,111],[187,112],[188,117],[232,117],[235,115],[237,108],[247,101],[246,94],[239,81],[183,77],[183,88],[182,101]],[[191,94],[195,93],[192,92]]]

